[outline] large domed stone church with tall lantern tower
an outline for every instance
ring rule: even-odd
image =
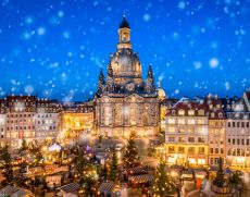
[[[117,49],[107,73],[104,77],[101,70],[95,96],[97,133],[108,137],[128,137],[132,132],[140,137],[155,135],[160,110],[152,66],[143,79],[126,19],[120,25]]]

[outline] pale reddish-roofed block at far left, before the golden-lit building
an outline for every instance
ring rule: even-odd
[[[25,139],[55,139],[62,111],[55,100],[38,99],[35,96],[8,96],[0,99],[0,147],[17,149]]]

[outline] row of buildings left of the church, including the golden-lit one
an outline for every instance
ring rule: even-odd
[[[62,104],[35,96],[8,96],[0,99],[0,146],[18,148],[22,139],[61,139],[66,133],[91,131],[91,103]],[[67,136],[68,137],[68,136]]]

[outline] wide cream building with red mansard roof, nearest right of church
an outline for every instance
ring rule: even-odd
[[[207,165],[209,119],[203,99],[182,98],[166,112],[165,121],[166,163]]]

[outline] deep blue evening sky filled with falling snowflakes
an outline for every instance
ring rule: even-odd
[[[249,0],[1,0],[0,15],[0,97],[92,97],[124,15],[168,97],[250,87]]]

